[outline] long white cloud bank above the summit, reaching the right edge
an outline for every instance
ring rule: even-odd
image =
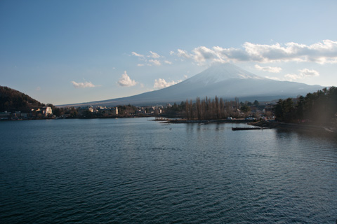
[[[316,62],[337,63],[337,41],[324,40],[312,45],[285,43],[281,45],[256,44],[246,42],[242,48],[221,48],[200,46],[192,50],[178,49],[178,57],[192,58],[195,62]]]

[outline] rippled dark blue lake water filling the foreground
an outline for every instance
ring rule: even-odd
[[[337,140],[146,118],[0,123],[0,223],[335,223]]]

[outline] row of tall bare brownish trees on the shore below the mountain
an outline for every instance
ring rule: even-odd
[[[211,99],[205,97],[200,99],[197,97],[195,102],[191,100],[186,100],[186,102],[181,102],[178,104],[173,104],[173,106],[166,108],[166,114],[171,117],[186,118],[187,120],[213,120],[213,119],[225,119],[227,117],[237,118],[240,116],[240,110],[247,114],[250,113],[250,106],[248,105],[258,105],[258,102],[242,103],[239,102],[238,98],[234,100],[227,101],[223,98],[215,97]]]

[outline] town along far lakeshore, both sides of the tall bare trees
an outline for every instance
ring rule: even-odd
[[[30,109],[29,112],[21,111],[1,111],[1,120],[27,120],[27,119],[60,119],[60,118],[134,118],[144,116],[163,116],[168,118],[185,118],[186,103],[166,104],[165,106],[84,106],[58,108],[51,104],[37,109]],[[187,104],[188,106],[188,104]],[[240,103],[233,106],[232,103],[225,107],[227,117],[232,118],[273,118],[272,109],[275,104],[255,102]],[[219,117],[220,118],[220,117]]]

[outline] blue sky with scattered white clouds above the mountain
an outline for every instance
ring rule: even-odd
[[[127,97],[213,63],[337,86],[337,1],[0,1],[0,85],[43,103]]]

